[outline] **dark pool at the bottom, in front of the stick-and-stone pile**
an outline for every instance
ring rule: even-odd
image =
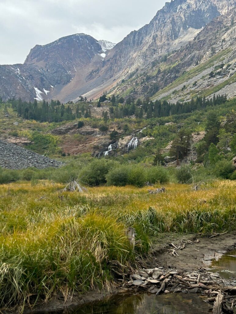
[[[205,314],[210,308],[196,294],[118,295],[80,307],[74,314]]]

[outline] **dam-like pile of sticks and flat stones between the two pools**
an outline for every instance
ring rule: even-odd
[[[205,302],[211,304],[214,314],[233,314],[236,307],[236,287],[224,286],[224,279],[219,275],[200,268],[196,272],[183,272],[173,269],[164,270],[139,269],[129,276],[121,272],[122,287],[147,291],[151,294],[161,293],[201,293]]]

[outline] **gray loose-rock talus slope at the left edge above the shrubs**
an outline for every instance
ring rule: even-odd
[[[25,169],[35,167],[43,169],[47,167],[60,167],[62,165],[63,163],[60,161],[0,140],[0,167],[2,168]]]

